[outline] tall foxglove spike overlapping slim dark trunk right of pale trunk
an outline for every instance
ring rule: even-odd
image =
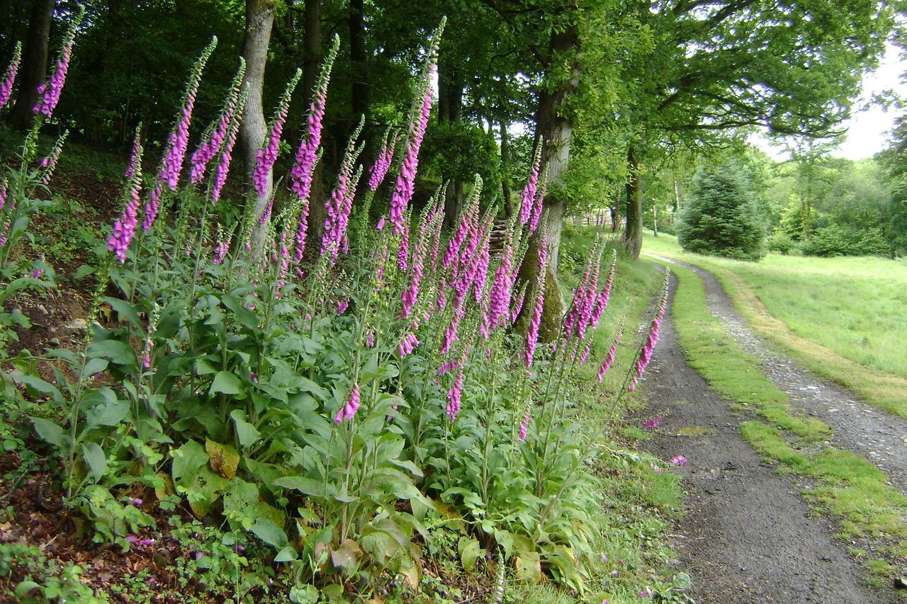
[[[301,262],[306,251],[306,236],[308,231],[308,197],[312,190],[312,178],[315,167],[320,157],[322,122],[325,118],[325,104],[327,103],[327,84],[330,82],[331,69],[334,67],[337,50],[340,48],[339,36],[334,36],[334,44],[327,52],[325,62],[321,65],[321,73],[315,86],[314,99],[308,108],[306,137],[299,143],[296,152],[296,163],[290,169],[291,187],[296,193],[299,202],[299,219],[296,233],[296,261]]]

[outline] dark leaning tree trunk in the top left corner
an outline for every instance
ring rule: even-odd
[[[34,103],[38,102],[37,87],[47,77],[47,41],[51,34],[54,0],[32,0],[28,17],[28,32],[22,64],[19,67],[19,93],[9,113],[9,122],[16,128],[27,130],[34,122]]]

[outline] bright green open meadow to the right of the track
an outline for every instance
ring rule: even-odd
[[[759,263],[682,252],[669,235],[645,249],[706,268],[756,332],[814,374],[907,417],[907,268],[883,258],[794,258]]]

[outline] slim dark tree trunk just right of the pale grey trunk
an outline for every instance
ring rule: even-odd
[[[318,72],[321,69],[321,0],[305,0],[303,23],[306,26],[303,38],[302,89],[312,98]],[[303,128],[305,132],[305,127]],[[325,208],[324,165],[327,158],[327,145],[322,136],[322,147],[325,149],[322,161],[318,161],[312,173],[312,189],[308,194],[308,240],[309,251],[321,248],[321,233],[325,228],[327,209]]]

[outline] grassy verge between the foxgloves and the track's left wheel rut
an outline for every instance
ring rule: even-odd
[[[565,231],[560,278],[568,299],[571,288],[581,278],[594,237],[595,229]],[[609,254],[606,252],[608,258]],[[590,360],[580,367],[573,385],[575,399],[583,401],[575,410],[578,423],[590,432],[615,412],[616,393],[634,361],[635,348],[631,342],[636,339],[636,326],[649,321],[649,307],[658,293],[661,278],[661,272],[650,263],[619,257],[610,303],[593,335]],[[602,387],[595,377],[598,363],[620,325],[626,326],[627,339],[619,347],[619,355]],[[625,396],[622,404],[640,403],[638,398]],[[680,478],[672,472],[656,472],[652,466],[664,465],[662,462],[648,453],[633,451],[630,443],[636,434],[632,431],[619,435],[619,428],[615,427],[614,432],[592,443],[607,453],[600,455],[596,462],[598,482],[593,495],[602,502],[598,519],[600,533],[594,542],[603,557],[598,566],[600,576],[590,581],[590,593],[585,597],[595,595],[595,601],[605,598],[612,603],[639,602],[639,592],[649,588],[659,601],[689,601],[684,593],[689,585],[688,575],[675,574],[668,568],[673,552],[667,545],[667,535],[671,520],[683,502]],[[543,584],[513,584],[507,596],[508,600],[527,602],[576,601],[569,594]]]

